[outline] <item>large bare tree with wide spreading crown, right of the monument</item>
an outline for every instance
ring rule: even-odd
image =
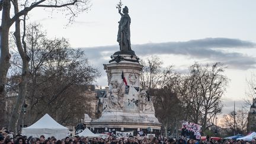
[[[221,97],[228,85],[228,78],[222,74],[224,69],[221,63],[212,66],[194,63],[190,74],[184,77],[180,101],[187,110],[187,120],[201,124],[202,130],[212,126],[216,114],[222,111]]]

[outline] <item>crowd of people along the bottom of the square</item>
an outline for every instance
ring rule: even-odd
[[[22,136],[15,135],[13,132],[9,132],[7,129],[0,131],[0,144],[256,144],[256,140],[252,139],[250,142],[245,142],[243,140],[213,140],[207,139],[204,141],[186,139],[185,137],[180,137],[179,139],[167,138],[167,137],[115,137],[108,136],[107,138],[100,137],[84,137],[84,136],[73,136],[64,137],[63,139],[56,139],[52,137],[40,137],[33,136]]]

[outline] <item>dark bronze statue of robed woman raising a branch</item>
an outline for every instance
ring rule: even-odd
[[[119,31],[117,34],[117,41],[119,42],[121,52],[132,50],[130,46],[131,45],[130,43],[131,19],[128,12],[129,12],[129,9],[127,7],[123,8],[123,14],[121,13],[121,9],[119,9],[121,20],[119,21]]]

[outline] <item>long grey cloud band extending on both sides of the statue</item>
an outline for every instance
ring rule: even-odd
[[[228,38],[206,38],[190,41],[167,43],[133,44],[136,55],[183,55],[188,59],[207,59],[222,62],[233,69],[256,68],[256,59],[239,52],[229,52],[225,49],[256,49],[256,44],[250,41]],[[83,48],[90,60],[96,63],[107,63],[109,57],[119,50],[119,46],[100,46]],[[97,64],[98,65],[98,64]]]

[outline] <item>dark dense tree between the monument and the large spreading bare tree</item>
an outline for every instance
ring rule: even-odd
[[[172,133],[178,132],[180,121],[184,119],[184,110],[177,95],[180,75],[169,73],[165,81],[167,84],[164,87],[152,91],[155,95],[153,98],[155,114],[163,124],[164,134],[167,136],[168,130],[172,130]]]

